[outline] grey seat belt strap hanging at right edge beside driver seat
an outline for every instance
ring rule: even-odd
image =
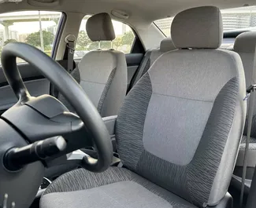
[[[244,185],[247,175],[247,158],[248,158],[248,150],[249,150],[249,144],[250,144],[250,132],[251,132],[251,125],[252,125],[252,119],[254,116],[254,105],[255,105],[255,93],[256,90],[256,46],[255,46],[255,53],[254,53],[254,66],[251,76],[251,82],[250,86],[247,88],[247,96],[244,98],[244,100],[247,100],[249,97],[249,106],[248,106],[248,126],[247,126],[247,140],[246,140],[246,146],[243,156],[243,175],[242,175],[242,186],[241,186],[241,193],[240,193],[240,207],[243,207],[243,192],[244,192]]]

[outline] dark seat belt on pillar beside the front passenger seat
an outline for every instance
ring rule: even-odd
[[[65,49],[65,56],[67,54],[68,59],[68,72],[71,73],[73,71],[73,60],[74,60],[74,52],[75,52],[75,35],[68,35],[65,37],[66,42],[66,49]]]

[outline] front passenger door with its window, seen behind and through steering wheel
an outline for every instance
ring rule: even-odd
[[[43,15],[42,20],[41,15]],[[14,20],[13,16],[19,16],[19,20],[15,18]],[[28,45],[41,48],[42,51],[49,56],[51,53],[53,53],[53,55],[56,54],[58,42],[60,41],[59,37],[65,26],[65,18],[65,13],[45,10],[41,13],[38,9],[34,11],[2,13],[0,23],[10,22],[11,24],[9,24],[9,26],[11,25],[11,27],[8,27],[8,25],[7,27],[2,27],[3,35],[1,36],[0,53],[2,46],[5,46],[8,42],[26,42]],[[24,30],[24,28],[29,28],[29,30]],[[15,34],[12,33],[12,31],[15,31]],[[42,94],[49,94],[50,82],[32,65],[18,57],[16,60],[20,75],[29,93],[36,97]],[[16,103],[17,98],[14,96],[12,89],[10,89],[6,81],[0,60],[0,111],[3,112]]]

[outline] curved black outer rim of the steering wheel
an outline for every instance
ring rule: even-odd
[[[31,95],[28,93],[28,89],[24,85],[20,71],[17,68],[17,57],[27,61],[28,64],[32,64],[56,86],[58,91],[63,94],[75,109],[76,114],[80,116],[87,131],[93,137],[98,151],[98,159],[85,157],[83,159],[83,167],[93,172],[106,170],[112,161],[113,154],[109,132],[94,104],[91,103],[91,100],[80,85],[60,64],[39,49],[20,42],[9,43],[2,50],[2,68],[7,82],[9,82],[18,98],[19,104],[26,103],[30,100]]]

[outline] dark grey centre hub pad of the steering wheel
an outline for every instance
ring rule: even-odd
[[[69,112],[56,98],[49,95],[30,98],[14,105],[2,118],[33,143],[55,136],[64,136],[83,128],[80,118]]]

